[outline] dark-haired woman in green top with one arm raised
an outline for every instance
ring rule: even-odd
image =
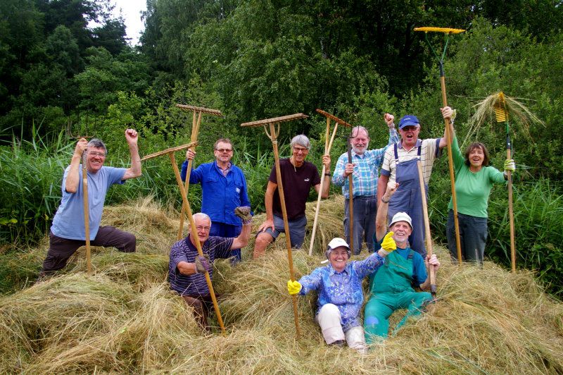
[[[451,109],[445,107],[443,113]],[[450,123],[453,124],[452,121]],[[462,155],[457,137],[450,127],[453,135],[452,153],[455,168],[455,194],[457,196],[457,219],[460,226],[460,242],[462,259],[466,262],[483,263],[483,254],[487,241],[487,208],[488,196],[495,183],[505,183],[506,171],[514,171],[514,160],[505,161],[505,173],[501,173],[493,166],[489,166],[489,156],[485,145],[474,142],[467,147]],[[453,219],[453,203],[448,204],[448,249],[452,259],[457,259],[457,246],[455,244],[455,228]]]

